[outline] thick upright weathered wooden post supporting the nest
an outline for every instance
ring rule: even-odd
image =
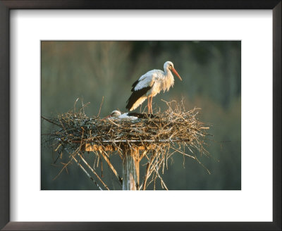
[[[123,150],[123,190],[139,189],[139,149]]]

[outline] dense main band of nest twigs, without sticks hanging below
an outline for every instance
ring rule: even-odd
[[[61,127],[51,133],[51,137],[63,143],[97,144],[116,147],[117,144],[129,146],[149,146],[159,143],[185,142],[189,146],[202,149],[203,137],[207,127],[197,119],[200,108],[185,111],[183,104],[166,102],[168,109],[157,113],[157,118],[126,120],[118,118],[90,118],[85,115],[84,107],[75,113],[63,113],[51,120]]]

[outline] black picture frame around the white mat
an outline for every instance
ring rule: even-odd
[[[281,230],[281,1],[0,0],[0,228],[2,230]],[[273,222],[11,222],[9,20],[12,9],[271,9],[273,11]],[[258,141],[259,142],[259,141]],[[259,201],[257,202],[259,204]]]

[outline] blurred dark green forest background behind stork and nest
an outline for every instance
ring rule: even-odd
[[[85,104],[90,102],[85,109],[90,117],[97,116],[103,96],[100,116],[107,116],[116,108],[125,112],[133,82],[148,70],[164,70],[165,61],[173,62],[183,81],[175,76],[174,87],[155,96],[153,108],[164,111],[166,104],[161,99],[183,98],[185,108],[202,108],[199,118],[212,124],[209,134],[213,135],[207,146],[211,156],[199,156],[211,174],[192,158],[185,157],[183,166],[183,155],[174,154],[163,175],[166,186],[175,190],[240,190],[240,41],[42,42],[42,116],[56,117],[72,110],[78,97]],[[145,105],[147,101],[142,108]],[[53,128],[42,120],[42,134]],[[68,167],[68,173],[63,171],[53,180],[62,168],[61,162],[66,160],[53,164],[52,149],[45,139],[42,136],[42,189],[97,189],[75,163]],[[120,159],[113,155],[111,161],[114,166],[120,165],[117,170],[122,175]],[[105,174],[105,181],[109,181],[111,176]]]

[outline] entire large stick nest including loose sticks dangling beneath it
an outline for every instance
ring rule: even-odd
[[[143,182],[145,189],[149,176],[152,176],[151,182],[155,182],[158,177],[161,180],[159,169],[164,173],[164,166],[167,167],[167,159],[172,154],[178,152],[197,161],[195,151],[198,154],[208,154],[204,149],[204,141],[209,127],[197,118],[200,108],[186,111],[183,103],[177,104],[176,101],[166,102],[166,105],[167,110],[156,113],[156,118],[138,120],[104,119],[99,116],[90,118],[85,115],[87,105],[82,104],[78,111],[74,109],[57,118],[44,119],[59,127],[49,134],[49,140],[52,141],[55,151],[60,150],[61,155],[63,151],[70,154],[69,163],[73,160],[78,163],[75,156],[79,155],[82,158],[84,151],[93,151],[97,158],[101,158],[102,154],[120,181],[121,177],[109,163],[109,155],[117,151],[123,158],[125,149],[144,150],[140,156],[147,158],[149,168]],[[66,168],[66,165],[63,168]],[[94,170],[90,171],[93,173]],[[162,180],[161,186],[166,188]]]

